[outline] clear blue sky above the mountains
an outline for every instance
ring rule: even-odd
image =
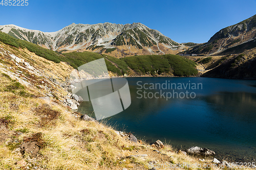
[[[256,0],[27,2],[28,6],[0,5],[0,25],[55,32],[73,22],[141,22],[177,42],[202,43],[222,28],[256,14]]]

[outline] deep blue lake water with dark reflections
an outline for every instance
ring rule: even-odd
[[[215,151],[219,159],[255,161],[255,80],[168,77],[126,79],[131,92],[131,106],[103,119],[104,122],[149,142],[160,139],[177,148],[208,148]],[[165,89],[163,84],[166,82],[170,88]],[[150,83],[153,83],[154,89]],[[156,83],[163,85],[163,89],[159,89]],[[178,89],[179,83],[182,89]],[[167,92],[168,97],[172,93],[172,98],[166,100],[164,96]],[[161,93],[164,93],[162,97]],[[83,102],[78,109],[94,117],[90,102]]]

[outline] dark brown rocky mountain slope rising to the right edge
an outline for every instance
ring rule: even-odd
[[[207,43],[190,48],[184,54],[239,54],[256,47],[256,15],[217,32]]]

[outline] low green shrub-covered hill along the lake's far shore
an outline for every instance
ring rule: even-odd
[[[143,75],[174,75],[174,76],[196,76],[196,63],[177,55],[147,55],[132,56],[117,59],[97,53],[65,53],[61,60],[67,62],[74,68],[87,62],[104,57],[109,71],[118,76],[127,74],[133,76]]]

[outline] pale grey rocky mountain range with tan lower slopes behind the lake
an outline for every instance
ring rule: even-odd
[[[176,54],[187,48],[186,45],[175,42],[142,23],[72,23],[52,33],[6,25],[0,26],[0,31],[61,53],[90,51],[121,58],[134,55]]]

